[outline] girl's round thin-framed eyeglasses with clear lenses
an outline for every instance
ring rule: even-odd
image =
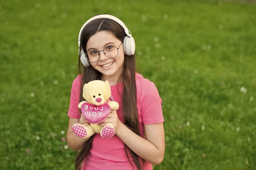
[[[121,42],[122,44],[123,42]],[[119,45],[119,47],[121,46],[121,44]],[[105,49],[101,50],[103,51],[104,55],[108,58],[115,58],[117,57],[118,55],[118,49],[119,47],[117,48],[116,46],[106,46]],[[90,50],[88,51],[85,56],[86,56],[86,59],[91,62],[91,63],[95,63],[95,62],[98,62],[99,61],[99,58],[100,58],[100,54],[99,52],[101,51],[97,51],[97,50]]]

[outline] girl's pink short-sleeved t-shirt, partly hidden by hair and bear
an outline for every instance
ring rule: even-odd
[[[144,124],[156,124],[164,121],[162,114],[162,99],[159,97],[157,88],[153,82],[145,79],[139,73],[135,75],[137,87],[137,108],[139,115],[139,126],[141,137],[144,138]],[[71,118],[80,118],[79,93],[80,93],[81,75],[74,79],[71,89],[70,108],[68,116]],[[116,102],[119,103],[117,115],[120,121],[123,120],[122,102],[120,89],[122,91],[122,83],[111,86],[111,94]],[[119,90],[119,93],[118,93]],[[79,115],[79,116],[78,116]],[[136,166],[135,166],[136,167]],[[82,170],[131,170],[126,153],[124,150],[124,142],[116,135],[110,139],[103,139],[99,134],[95,134],[92,142],[92,148],[88,157],[82,165]],[[145,170],[152,170],[151,163],[146,161]]]

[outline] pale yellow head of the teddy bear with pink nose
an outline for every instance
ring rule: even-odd
[[[108,80],[93,80],[83,86],[83,98],[90,104],[100,106],[104,104],[111,95]]]

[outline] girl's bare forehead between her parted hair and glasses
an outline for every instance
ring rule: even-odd
[[[117,43],[119,40],[110,31],[99,31],[88,39],[86,49],[102,48],[109,42]]]

